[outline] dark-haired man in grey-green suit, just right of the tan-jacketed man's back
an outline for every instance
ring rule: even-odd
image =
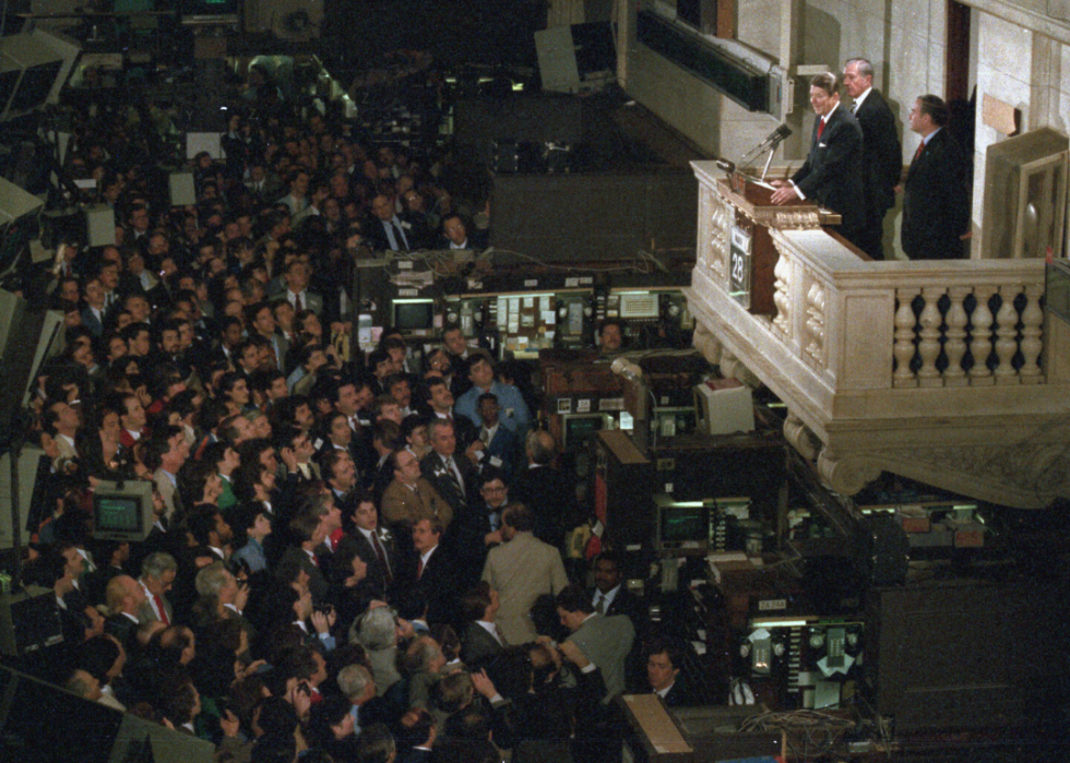
[[[580,665],[581,669],[602,671],[606,682],[602,703],[608,704],[625,691],[625,659],[635,640],[631,620],[623,615],[598,615],[591,604],[591,595],[579,585],[569,585],[557,595],[557,613],[561,624],[572,632],[566,644],[574,644],[594,666]],[[564,654],[569,651],[562,645]]]

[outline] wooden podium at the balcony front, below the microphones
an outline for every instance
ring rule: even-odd
[[[775,205],[776,189],[758,178],[734,171],[717,180],[717,192],[735,210],[729,234],[728,291],[749,312],[773,315],[773,267],[776,248],[770,228],[797,230],[837,225],[840,214],[808,201]]]

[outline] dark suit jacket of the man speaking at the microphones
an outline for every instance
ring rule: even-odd
[[[839,212],[840,233],[856,242],[866,226],[861,128],[843,104],[829,117],[819,140],[820,123],[820,118],[815,120],[810,154],[792,180],[808,200]]]

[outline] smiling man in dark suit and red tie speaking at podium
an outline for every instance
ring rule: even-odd
[[[840,83],[831,72],[810,80],[813,122],[810,154],[790,180],[774,180],[771,201],[787,204],[799,199],[840,213],[841,236],[863,248],[866,194],[863,184],[863,136],[858,120],[841,108]]]

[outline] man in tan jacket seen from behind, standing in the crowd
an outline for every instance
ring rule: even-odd
[[[490,550],[483,580],[498,592],[501,606],[496,622],[506,643],[525,644],[535,639],[535,624],[528,617],[535,599],[559,593],[569,581],[560,552],[532,533],[535,515],[531,509],[511,503],[501,521],[506,543]]]

